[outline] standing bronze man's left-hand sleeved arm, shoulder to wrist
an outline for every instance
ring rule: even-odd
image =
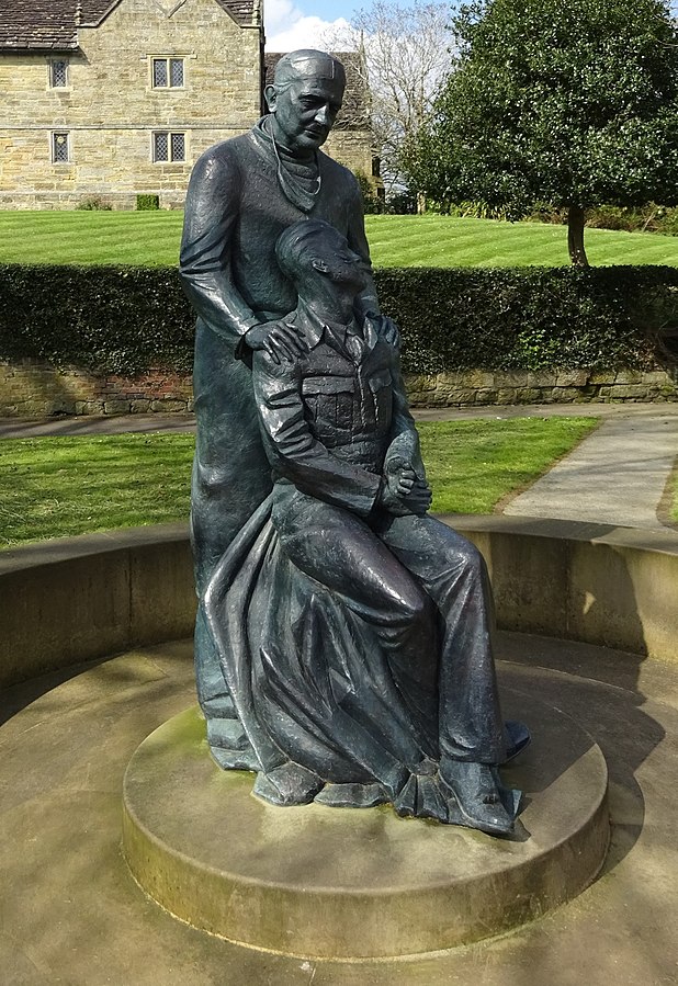
[[[199,159],[187,194],[179,267],[194,309],[215,332],[234,343],[260,322],[231,274],[240,182],[233,154],[216,147]]]

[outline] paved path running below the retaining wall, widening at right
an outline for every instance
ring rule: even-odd
[[[572,415],[601,418],[594,434],[508,503],[505,513],[636,528],[660,528],[666,520],[666,490],[678,456],[678,404],[443,408],[415,413],[420,421]],[[0,419],[0,439],[191,431],[194,427],[194,419],[188,415],[46,421],[4,418]]]

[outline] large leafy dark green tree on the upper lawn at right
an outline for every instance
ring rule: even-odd
[[[437,201],[523,217],[567,209],[588,265],[586,209],[678,202],[678,33],[664,0],[479,0],[406,170]]]

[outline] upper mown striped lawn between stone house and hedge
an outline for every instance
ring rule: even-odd
[[[180,212],[0,211],[0,262],[173,265]],[[377,267],[558,267],[568,263],[564,226],[449,216],[368,216]],[[586,233],[594,264],[678,265],[678,237]]]

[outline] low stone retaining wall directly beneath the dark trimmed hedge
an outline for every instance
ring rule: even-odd
[[[587,370],[406,375],[413,407],[678,400],[678,374],[664,370]],[[193,409],[190,373],[156,370],[131,378],[0,362],[0,417],[182,413]]]

